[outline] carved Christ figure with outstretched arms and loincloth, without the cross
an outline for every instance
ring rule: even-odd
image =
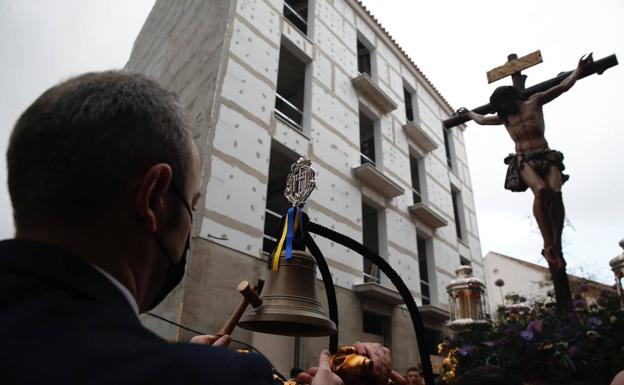
[[[490,97],[495,114],[483,116],[463,107],[457,111],[478,124],[503,124],[507,128],[516,153],[505,158],[509,165],[505,188],[514,192],[530,188],[533,192],[533,215],[544,239],[542,254],[557,269],[565,264],[561,250],[565,218],[561,186],[568,175],[563,173],[563,154],[550,149],[544,137],[542,106],[572,88],[592,62],[591,53],[581,57],[577,68],[559,85],[528,98],[512,86],[498,87]]]

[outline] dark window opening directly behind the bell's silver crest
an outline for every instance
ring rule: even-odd
[[[280,220],[288,211],[290,203],[284,197],[286,178],[290,167],[299,157],[283,145],[271,144],[271,158],[269,160],[269,183],[267,184],[266,210],[264,214],[264,235],[262,236],[262,251],[271,253],[277,246]]]

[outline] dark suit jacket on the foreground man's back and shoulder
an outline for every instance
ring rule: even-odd
[[[0,242],[0,367],[11,384],[269,384],[261,356],[170,344],[84,260]]]

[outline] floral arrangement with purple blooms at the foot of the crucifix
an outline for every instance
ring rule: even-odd
[[[448,362],[442,377],[452,379],[481,365],[499,365],[525,381],[605,383],[624,369],[624,310],[611,292],[596,303],[584,298],[587,285],[570,311],[553,303],[500,307],[485,331],[463,332],[447,341]]]

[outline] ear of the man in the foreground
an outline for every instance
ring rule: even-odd
[[[135,210],[150,232],[158,229],[159,213],[165,206],[172,175],[171,166],[158,163],[150,167],[139,182],[135,195]]]

